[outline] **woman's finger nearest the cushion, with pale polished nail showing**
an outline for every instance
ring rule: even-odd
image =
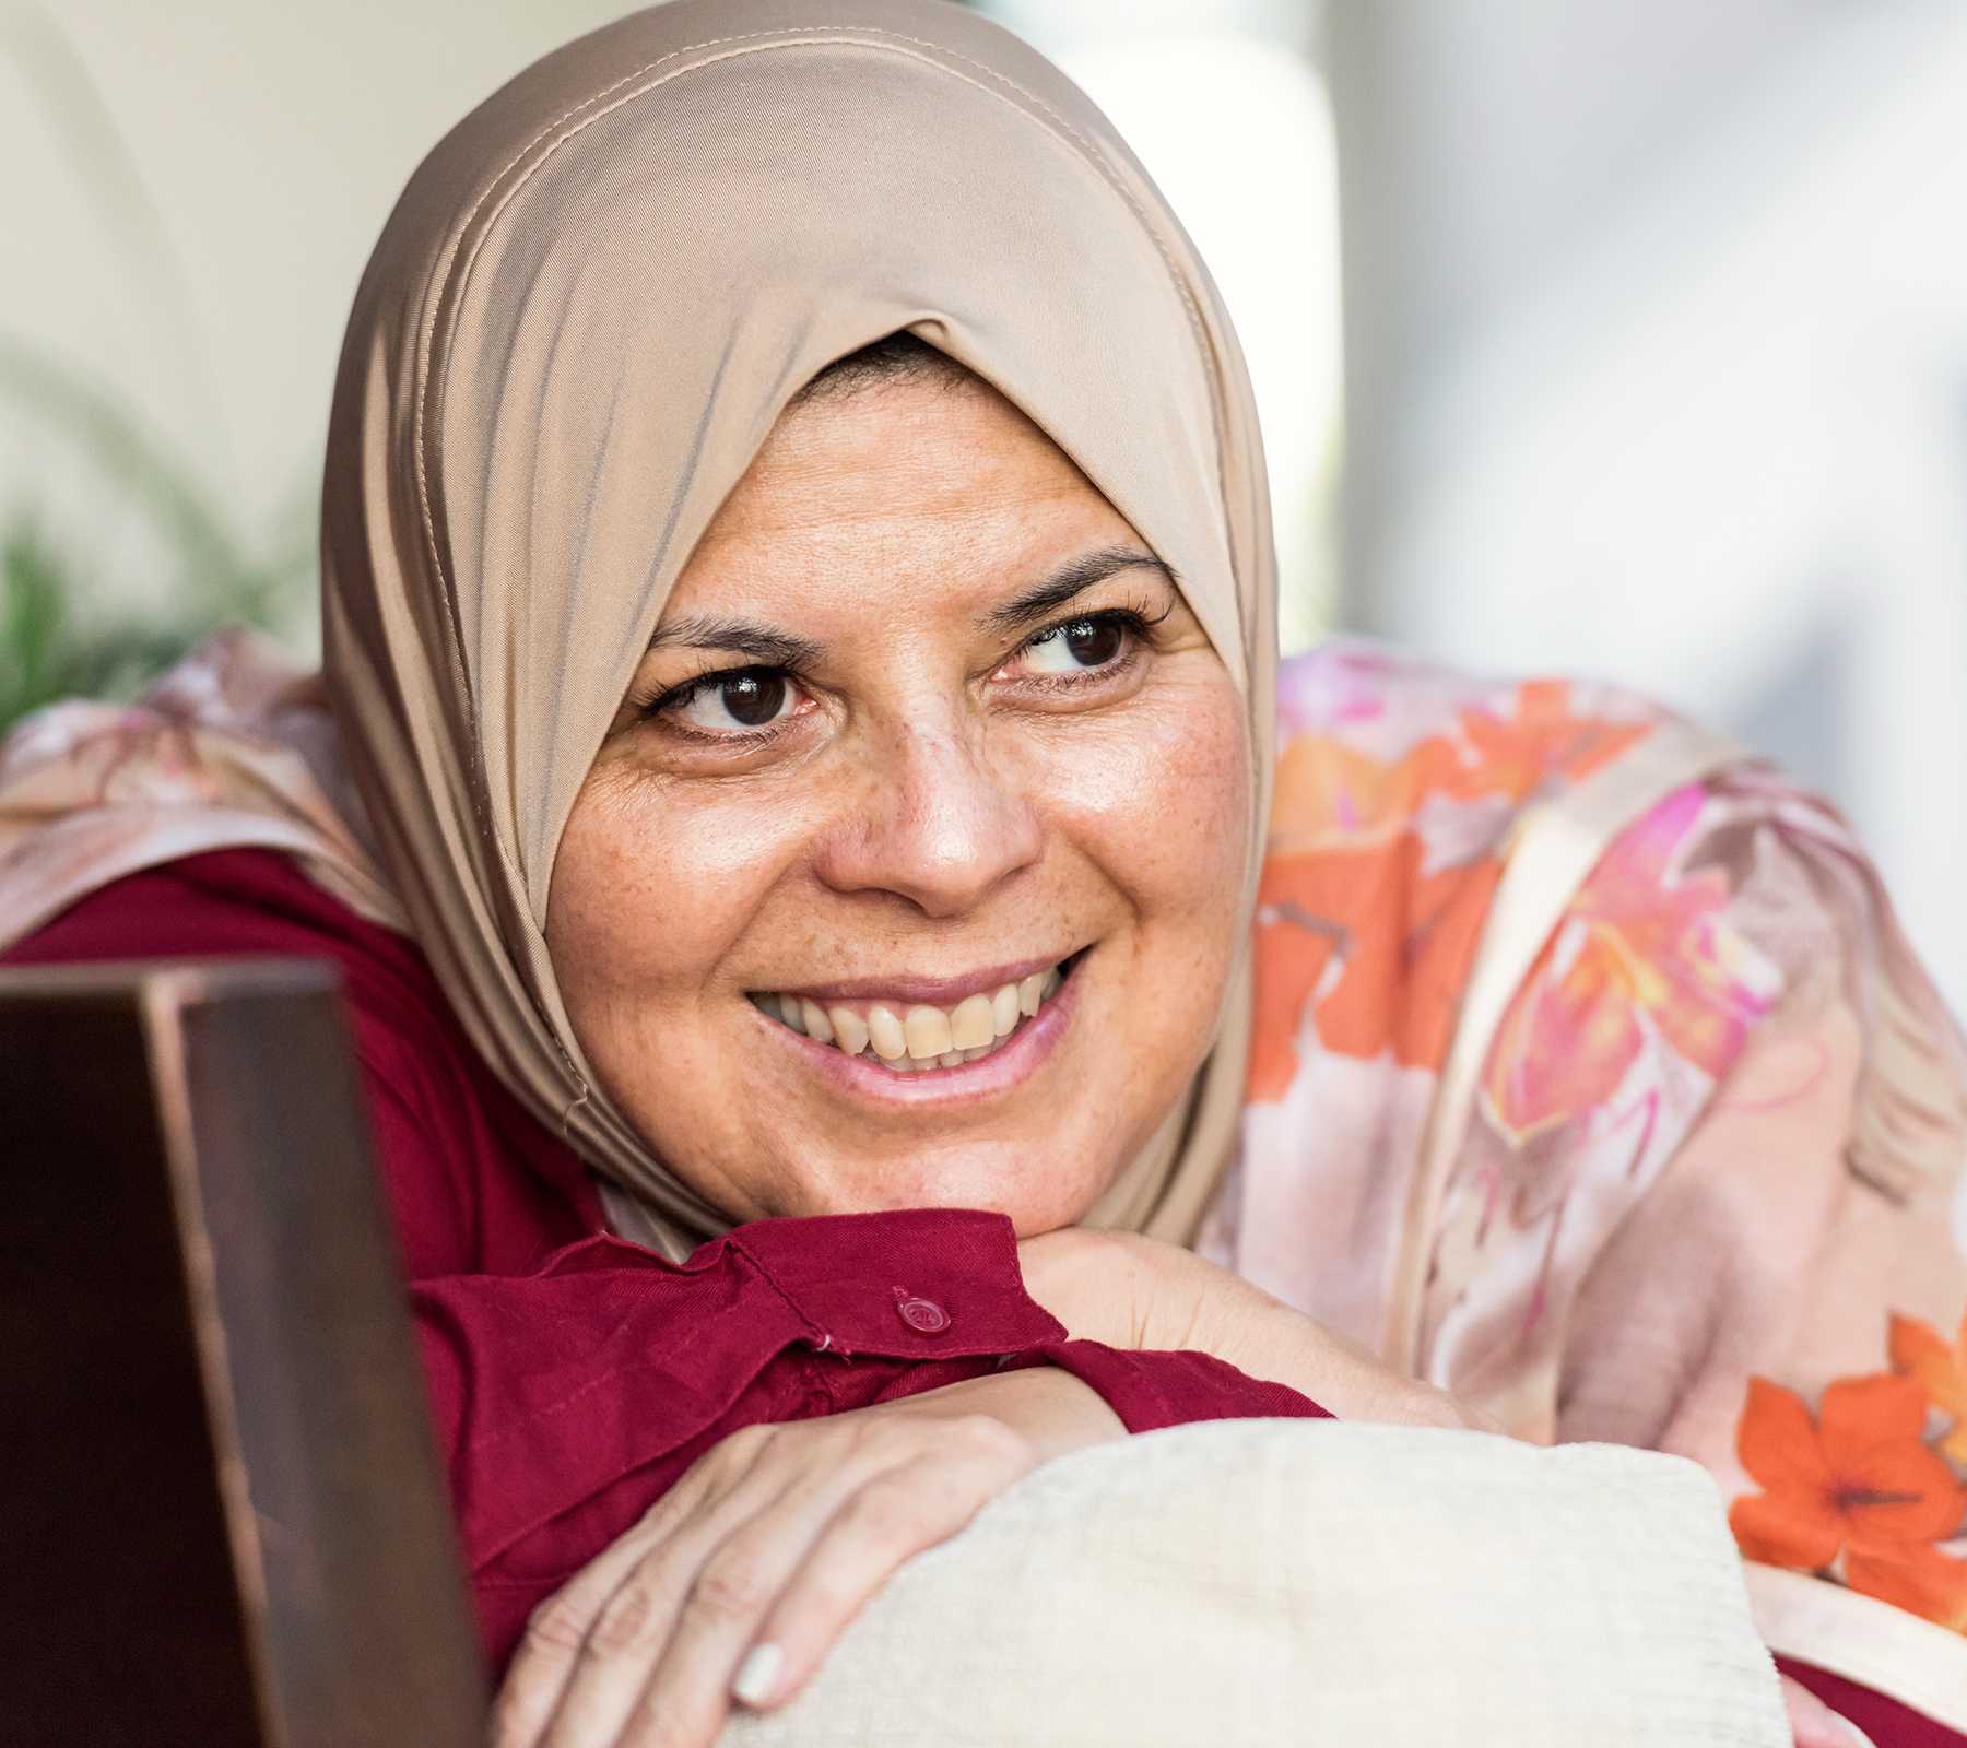
[[[942,1443],[871,1477],[814,1538],[740,1663],[745,1705],[791,1699],[895,1567],[946,1542],[1037,1463],[1035,1447],[1003,1422],[968,1416],[948,1426],[962,1428],[956,1447]]]

